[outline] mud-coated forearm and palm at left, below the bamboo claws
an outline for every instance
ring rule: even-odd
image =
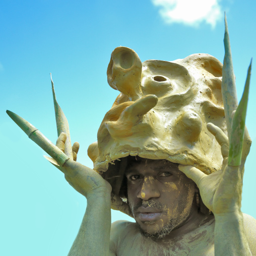
[[[61,171],[70,185],[87,199],[85,216],[69,256],[109,255],[110,184],[97,172],[76,161],[68,160]]]

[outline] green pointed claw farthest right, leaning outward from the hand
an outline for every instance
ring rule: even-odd
[[[246,117],[246,110],[247,110],[247,103],[248,103],[249,85],[250,85],[250,72],[251,72],[251,61],[250,61],[250,66],[248,68],[243,95],[232,120],[232,130],[231,130],[231,136],[229,141],[229,155],[228,155],[228,165],[230,166],[239,166],[241,164],[245,117]]]

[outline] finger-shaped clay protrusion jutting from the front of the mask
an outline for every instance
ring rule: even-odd
[[[133,126],[138,124],[150,109],[157,104],[155,95],[146,95],[136,100],[132,105],[126,107],[117,121],[105,123],[112,138],[124,138],[133,135]]]

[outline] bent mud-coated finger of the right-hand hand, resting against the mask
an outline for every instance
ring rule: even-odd
[[[207,129],[215,136],[217,142],[220,144],[223,158],[227,157],[229,152],[228,137],[218,126],[211,122],[207,123]]]

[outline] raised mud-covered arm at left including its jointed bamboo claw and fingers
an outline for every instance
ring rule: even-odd
[[[59,135],[55,146],[31,123],[11,111],[7,113],[31,140],[52,157],[46,159],[65,174],[70,185],[87,198],[86,213],[69,255],[109,255],[111,185],[96,171],[74,161],[78,144],[72,147],[73,159],[64,153],[65,133]]]

